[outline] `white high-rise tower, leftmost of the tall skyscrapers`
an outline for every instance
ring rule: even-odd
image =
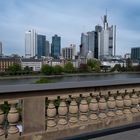
[[[37,53],[37,34],[35,30],[29,30],[25,33],[25,57],[36,56]]]

